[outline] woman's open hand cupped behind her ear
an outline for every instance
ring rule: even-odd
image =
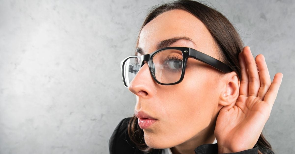
[[[259,54],[255,59],[250,47],[239,54],[240,95],[235,104],[222,107],[217,117],[214,134],[218,153],[252,149],[271,113],[283,74],[277,73],[271,83],[264,56]]]

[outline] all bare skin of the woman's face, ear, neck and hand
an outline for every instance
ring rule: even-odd
[[[219,59],[208,29],[183,10],[167,11],[145,25],[138,47],[150,54],[158,42],[173,37],[189,37],[192,42],[182,39],[171,47],[190,47]],[[257,55],[255,63],[249,47],[239,60],[241,81],[234,71],[221,76],[217,69],[189,58],[183,81],[169,86],[156,83],[145,63],[128,87],[137,97],[135,112],[144,111],[157,119],[143,130],[145,143],[156,149],[171,148],[173,154],[194,153],[196,147],[215,138],[219,153],[253,148],[283,74],[277,73],[272,84],[263,55]]]

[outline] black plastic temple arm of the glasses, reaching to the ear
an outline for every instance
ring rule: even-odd
[[[195,57],[196,59],[198,59],[206,64],[211,65],[212,67],[218,69],[221,72],[229,73],[229,72],[233,71],[230,67],[228,67],[226,64],[219,61],[218,59],[215,59],[215,58],[213,58],[207,54],[204,54],[202,52],[199,52],[197,50],[190,48],[189,56]]]

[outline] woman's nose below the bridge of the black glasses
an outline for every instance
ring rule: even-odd
[[[155,94],[155,84],[148,63],[145,62],[130,82],[128,89],[139,97],[147,98]]]

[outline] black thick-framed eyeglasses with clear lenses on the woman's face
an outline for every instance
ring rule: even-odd
[[[191,57],[209,64],[223,73],[232,69],[223,62],[188,47],[166,47],[151,54],[129,56],[122,60],[122,78],[128,88],[139,69],[148,62],[153,79],[160,85],[175,85],[183,80],[187,59]]]

